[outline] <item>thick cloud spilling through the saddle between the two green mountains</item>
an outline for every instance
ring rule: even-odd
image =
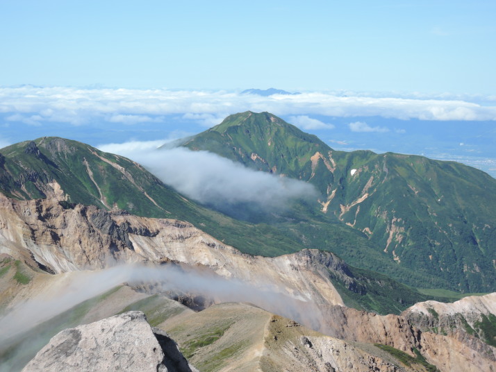
[[[143,164],[181,194],[223,212],[232,212],[237,205],[278,212],[293,199],[317,198],[313,185],[303,181],[254,171],[207,151],[157,150],[157,143],[106,144],[99,149]]]

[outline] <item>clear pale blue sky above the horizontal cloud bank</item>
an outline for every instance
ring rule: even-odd
[[[495,1],[0,1],[0,85],[494,94]]]

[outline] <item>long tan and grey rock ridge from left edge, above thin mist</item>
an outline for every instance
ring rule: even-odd
[[[307,250],[280,257],[251,256],[173,219],[135,217],[49,199],[15,201],[0,195],[2,239],[26,249],[38,267],[55,273],[103,269],[113,262],[173,261],[207,267],[256,287],[271,283],[300,301],[343,305],[329,274],[330,269],[342,270],[342,261],[332,253]],[[8,244],[0,249],[15,255]]]

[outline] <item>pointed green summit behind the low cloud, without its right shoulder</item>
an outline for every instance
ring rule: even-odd
[[[308,180],[312,156],[333,151],[315,135],[299,130],[269,112],[241,112],[183,143],[247,167]]]

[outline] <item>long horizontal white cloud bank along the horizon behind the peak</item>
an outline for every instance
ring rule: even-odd
[[[95,121],[131,125],[160,121],[163,115],[181,115],[185,119],[212,126],[229,114],[247,110],[293,116],[302,128],[326,125],[314,121],[309,115],[440,121],[496,120],[495,105],[479,105],[460,99],[342,96],[322,92],[264,97],[226,91],[0,88],[0,114],[8,120],[33,125],[44,122],[83,125]]]

